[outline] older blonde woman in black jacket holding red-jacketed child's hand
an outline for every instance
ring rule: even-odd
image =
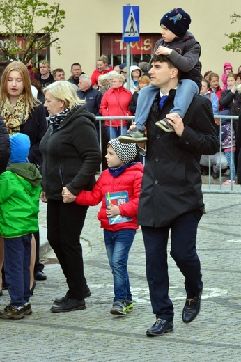
[[[47,239],[65,275],[68,291],[54,300],[54,313],[86,308],[91,292],[84,278],[79,242],[87,208],[75,203],[81,190],[91,190],[101,162],[95,116],[79,100],[69,81],[45,88],[50,125],[40,143],[43,156],[41,200],[47,202]],[[69,193],[63,202],[63,191]]]

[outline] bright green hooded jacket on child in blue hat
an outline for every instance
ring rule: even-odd
[[[42,176],[34,164],[13,163],[0,176],[0,234],[20,237],[38,230]]]

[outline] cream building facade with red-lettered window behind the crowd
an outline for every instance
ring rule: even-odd
[[[49,4],[55,0],[47,0]],[[112,65],[125,61],[126,44],[122,41],[123,6],[118,0],[58,0],[66,12],[65,27],[56,35],[61,44],[61,55],[50,48],[51,68],[63,68],[66,78],[70,77],[72,63],[81,63],[82,70],[91,75],[96,60],[101,54],[109,58]],[[240,52],[226,52],[222,47],[228,44],[226,33],[240,30],[241,22],[231,24],[230,15],[240,14],[240,0],[138,0],[140,42],[130,43],[132,61],[148,58],[160,38],[160,19],[173,7],[183,8],[192,18],[190,31],[201,44],[203,74],[212,70],[220,76],[226,61],[236,72],[241,65]],[[1,32],[1,29],[0,29]]]

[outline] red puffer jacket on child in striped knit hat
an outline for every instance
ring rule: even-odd
[[[141,191],[141,180],[143,175],[143,165],[137,162],[120,173],[118,177],[109,173],[109,170],[104,170],[98,178],[92,191],[81,191],[77,196],[75,203],[78,205],[95,206],[102,201],[98,219],[100,220],[101,228],[109,231],[118,231],[121,229],[138,229],[137,225],[137,208],[139,203],[139,194]],[[106,214],[107,203],[105,195],[109,192],[128,191],[129,202],[125,203],[120,208],[120,214],[125,217],[131,217],[132,221],[124,223],[109,224],[109,219]]]

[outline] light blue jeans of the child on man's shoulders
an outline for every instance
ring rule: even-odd
[[[157,92],[160,88],[155,86],[147,86],[139,91],[137,98],[137,111],[135,114],[135,122],[137,129],[143,131],[143,125],[146,124],[146,120],[150,113],[150,108],[157,96]],[[174,98],[174,108],[169,113],[178,113],[180,118],[184,118],[187,113],[187,109],[193,100],[194,95],[199,94],[199,87],[191,79],[182,79],[178,83],[176,95]]]

